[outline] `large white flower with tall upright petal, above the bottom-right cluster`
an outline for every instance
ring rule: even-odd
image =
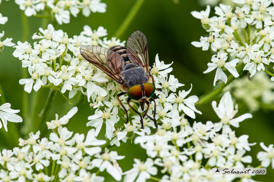
[[[222,128],[223,133],[229,133],[232,131],[229,125],[238,128],[240,122],[244,121],[247,118],[252,118],[252,114],[246,113],[233,119],[233,117],[238,111],[234,110],[234,104],[230,92],[226,92],[222,96],[218,107],[217,102],[212,101],[212,108],[214,109],[218,117],[221,119],[219,123],[214,124],[214,130],[216,132],[220,131]]]

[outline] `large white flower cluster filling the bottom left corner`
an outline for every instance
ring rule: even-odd
[[[106,170],[120,181],[122,170],[117,152],[100,145],[106,143],[95,137],[95,130],[84,134],[69,131],[62,125],[77,112],[72,108],[67,115],[49,122],[55,126],[48,138],[40,139],[40,131],[19,139],[19,147],[0,152],[1,181],[104,181],[98,174]],[[95,171],[95,172],[94,172]],[[96,173],[97,171],[97,173]]]

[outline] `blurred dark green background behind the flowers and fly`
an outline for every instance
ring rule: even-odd
[[[106,13],[93,13],[90,17],[83,17],[79,13],[77,18],[71,16],[69,24],[58,25],[58,29],[62,29],[67,32],[69,37],[73,35],[79,35],[84,25],[89,25],[92,29],[97,29],[98,26],[103,26],[108,30],[108,37],[112,37],[115,31],[119,28],[124,17],[129,13],[131,7],[135,1],[128,0],[103,0],[107,4]],[[159,53],[160,60],[165,63],[173,63],[172,74],[178,78],[179,82],[184,83],[185,86],[181,89],[188,90],[190,83],[193,84],[191,95],[201,96],[204,93],[208,93],[213,89],[213,79],[215,72],[212,71],[209,74],[203,74],[202,72],[207,69],[207,62],[210,61],[212,53],[210,51],[202,51],[200,48],[192,46],[192,41],[199,41],[200,36],[206,36],[207,32],[201,27],[200,20],[191,16],[190,12],[193,10],[201,11],[205,7],[199,6],[196,0],[192,1],[180,1],[179,4],[174,4],[172,0],[147,0],[138,11],[133,22],[127,28],[125,33],[118,37],[121,40],[127,40],[129,35],[140,30],[145,33],[149,41],[149,58],[150,65],[153,65],[155,61],[155,55]],[[5,31],[5,37],[12,37],[13,42],[22,40],[22,12],[19,10],[19,6],[10,0],[8,2],[2,1],[0,5],[0,12],[3,16],[8,17],[8,22],[5,25],[0,25],[0,31]],[[211,14],[214,12],[211,12]],[[28,17],[29,34],[27,40],[32,43],[31,36],[33,33],[38,32],[38,28],[44,26],[48,22],[42,22],[42,19],[37,17]],[[38,93],[32,91],[31,94],[27,94],[23,91],[23,86],[19,85],[18,81],[22,77],[21,61],[12,56],[14,48],[5,47],[3,54],[0,55],[0,82],[3,86],[4,93],[1,93],[8,102],[12,104],[13,109],[21,109],[19,115],[23,117],[23,112],[28,119],[36,118],[38,112],[41,111],[45,104],[49,89],[40,89]],[[26,68],[25,68],[26,69]],[[246,76],[246,75],[244,75]],[[29,76],[25,77],[29,78]],[[28,95],[28,106],[22,106],[23,94]],[[42,97],[42,100],[36,102],[36,94]],[[76,95],[76,98],[80,97],[80,94]],[[3,103],[3,97],[0,97]],[[219,102],[220,97],[216,100]],[[74,102],[75,100],[72,100]],[[72,108],[73,105],[69,105],[68,102],[58,93],[53,103],[53,108],[50,114],[47,116],[47,120],[55,119],[55,113],[59,116],[63,116],[67,111]],[[25,109],[25,111],[23,111]],[[92,109],[89,107],[89,103],[86,97],[81,100],[78,105],[78,113],[70,120],[67,127],[74,132],[86,133],[90,127],[86,127],[87,117],[93,114]],[[213,122],[219,122],[219,119],[213,111],[211,104],[200,105],[197,107],[203,114],[196,114],[196,121],[206,122],[211,120]],[[32,111],[36,112],[36,115],[32,116]],[[241,115],[248,112],[244,104],[239,103],[239,113]],[[249,142],[257,142],[257,145],[252,147],[252,151],[247,154],[253,156],[252,166],[260,165],[260,162],[256,159],[258,151],[262,151],[259,146],[259,142],[265,142],[265,145],[274,143],[274,112],[271,109],[264,109],[264,111],[257,111],[253,113],[253,118],[240,123],[240,128],[235,129],[236,135],[241,136],[243,134],[249,135]],[[25,120],[25,118],[23,117]],[[194,120],[190,120],[193,122]],[[12,127],[18,127],[22,129],[23,123],[14,124],[8,123],[8,133],[3,134],[0,132],[0,148],[14,147],[9,140],[11,138],[24,137],[19,133],[15,133]],[[25,123],[27,129],[31,131],[32,124]],[[24,129],[24,128],[23,128]],[[1,129],[4,131],[4,129]],[[102,129],[102,131],[104,128]],[[36,131],[34,131],[36,132]],[[46,133],[44,133],[46,135]],[[7,138],[8,137],[8,138]],[[104,138],[103,133],[99,138]],[[124,160],[119,161],[119,165],[123,170],[129,170],[132,168],[133,158],[138,157],[141,160],[145,160],[146,154],[139,145],[131,144],[130,142],[122,143],[121,147],[112,147],[111,150],[118,151],[118,154],[125,155]],[[105,175],[105,181],[113,181],[107,173]],[[266,175],[257,175],[254,179],[257,181],[273,181],[274,171],[271,167],[268,168]]]

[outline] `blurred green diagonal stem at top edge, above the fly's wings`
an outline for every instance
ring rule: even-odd
[[[141,8],[142,4],[145,0],[137,0],[133,7],[131,8],[129,14],[127,14],[127,17],[124,19],[124,21],[121,23],[121,26],[118,28],[118,30],[115,32],[114,37],[120,38],[125,30],[129,27],[130,23],[136,16],[138,10]]]

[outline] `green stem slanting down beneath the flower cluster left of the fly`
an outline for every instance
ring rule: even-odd
[[[44,120],[45,120],[46,116],[48,115],[48,112],[50,111],[50,109],[52,107],[52,102],[54,100],[55,95],[56,95],[56,90],[50,89],[50,92],[48,94],[48,98],[47,98],[47,101],[45,103],[45,106],[41,111],[41,113],[42,113],[41,117],[38,121],[35,122],[35,126],[34,126],[35,131],[39,130],[40,127],[41,127],[41,124],[44,123]]]

